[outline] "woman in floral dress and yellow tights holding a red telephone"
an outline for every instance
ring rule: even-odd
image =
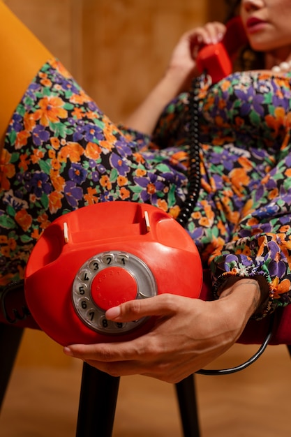
[[[268,70],[234,73],[213,86],[208,77],[199,80],[201,189],[186,223],[219,299],[169,294],[108,310],[106,317],[117,322],[157,317],[154,329],[133,341],[65,348],[112,375],[177,382],[230,348],[251,316],[290,302],[290,78],[269,68],[291,56],[291,6],[288,0],[241,0],[240,12]],[[179,215],[189,151],[188,94],[181,91],[197,75],[197,51],[221,40],[225,27],[210,23],[181,38],[165,76],[125,128],[105,117],[3,3],[0,13],[1,41],[8,29],[21,36],[17,47],[3,44],[0,55],[1,64],[11,66],[0,73],[8,102],[1,109],[4,286],[22,278],[40,232],[64,212],[141,198]],[[36,50],[19,77],[17,66],[27,61],[18,52],[27,46]]]

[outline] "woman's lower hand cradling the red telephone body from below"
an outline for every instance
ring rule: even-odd
[[[260,297],[257,281],[240,279],[213,302],[170,294],[126,302],[109,309],[106,318],[128,322],[155,316],[151,332],[126,342],[73,345],[64,352],[112,376],[142,374],[177,383],[232,346]]]

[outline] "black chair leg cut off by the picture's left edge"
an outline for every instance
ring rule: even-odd
[[[10,375],[13,371],[13,365],[20,346],[23,331],[23,328],[0,323],[0,408],[6,394]]]

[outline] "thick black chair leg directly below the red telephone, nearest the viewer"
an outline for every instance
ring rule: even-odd
[[[111,437],[119,380],[84,363],[76,437]]]

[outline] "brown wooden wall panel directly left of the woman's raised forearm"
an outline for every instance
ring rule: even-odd
[[[200,0],[84,0],[83,84],[114,121],[163,75],[177,40],[202,24]]]

